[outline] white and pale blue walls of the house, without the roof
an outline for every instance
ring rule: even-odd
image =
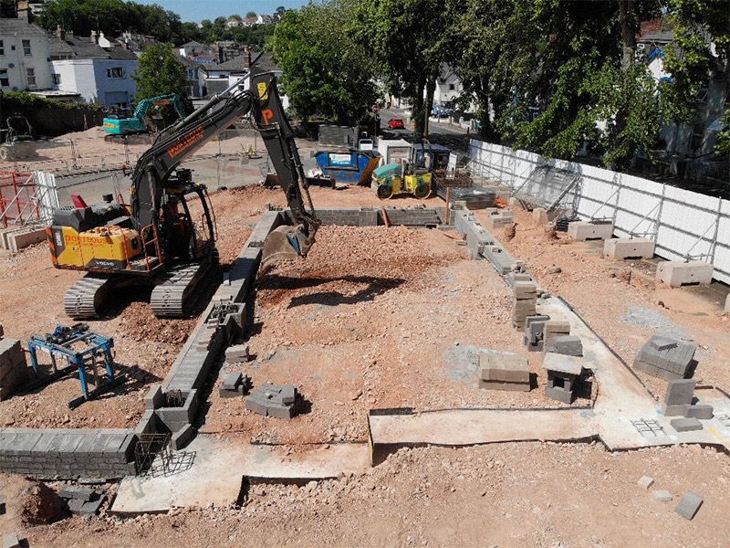
[[[130,104],[137,93],[137,83],[132,74],[137,61],[114,59],[65,59],[50,62],[51,70],[61,76],[60,90],[75,91],[87,102],[99,100],[105,108],[118,103]],[[125,68],[123,79],[107,77],[107,68]]]

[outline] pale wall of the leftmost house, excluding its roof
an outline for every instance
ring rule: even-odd
[[[51,76],[48,70],[48,41],[46,37],[34,34],[0,36],[3,40],[4,54],[0,56],[0,68],[7,70],[9,85],[4,91],[48,90],[51,88]],[[30,40],[30,56],[26,56],[23,40]],[[13,49],[15,47],[15,50]],[[11,65],[13,65],[11,67]],[[36,71],[36,85],[29,87],[26,69]]]

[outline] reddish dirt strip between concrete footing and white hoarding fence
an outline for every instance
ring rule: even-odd
[[[697,345],[698,384],[730,391],[730,318],[723,314],[723,284],[657,288],[655,260],[602,258],[602,242],[572,242],[559,232],[558,239],[551,239],[527,211],[515,215],[514,239],[507,240],[501,231],[495,236],[547,290],[568,300],[625,362],[633,363],[652,334],[666,332]],[[477,218],[484,219],[484,212]],[[655,395],[663,396],[666,381],[637,373]]]

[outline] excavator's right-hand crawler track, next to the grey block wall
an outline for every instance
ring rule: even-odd
[[[205,273],[217,264],[217,252],[202,263],[168,270],[152,290],[150,306],[158,318],[184,318],[193,305],[193,292]]]

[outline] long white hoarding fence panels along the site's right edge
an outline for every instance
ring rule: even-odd
[[[715,279],[730,283],[728,200],[475,139],[469,157],[473,174],[509,186],[518,197],[527,197],[529,189],[545,202],[561,184],[555,174],[567,175],[572,184],[565,195],[558,194],[556,205],[569,205],[586,220],[612,220],[618,237],[652,239],[659,257],[706,260],[714,266]]]

